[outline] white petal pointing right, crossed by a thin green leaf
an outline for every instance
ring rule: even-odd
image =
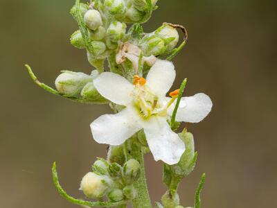
[[[172,115],[175,103],[173,103],[168,109],[168,114]],[[181,98],[176,115],[176,121],[198,123],[202,121],[209,112],[211,112],[212,107],[213,103],[211,98],[204,93]]]

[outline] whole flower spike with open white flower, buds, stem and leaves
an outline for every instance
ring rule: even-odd
[[[114,111],[90,125],[93,139],[109,145],[107,160],[96,160],[80,184],[87,198],[98,201],[68,196],[53,166],[55,186],[70,202],[124,208],[132,201],[134,208],[151,208],[143,163],[143,155],[151,152],[154,160],[163,162],[163,182],[168,187],[156,207],[182,207],[177,189],[193,171],[197,153],[193,135],[186,128],[178,133],[179,125],[202,121],[213,103],[204,93],[183,97],[186,79],[180,89],[170,91],[176,78],[171,60],[185,46],[188,35],[183,26],[167,23],[145,33],[141,24],[157,8],[157,0],[75,0],[71,15],[79,28],[70,41],[86,50],[95,69],[90,74],[62,71],[55,90],[40,83],[26,65],[35,83],[48,92],[79,103],[109,104]],[[179,46],[177,29],[184,33]],[[205,175],[195,194],[195,208],[200,206],[204,180]]]

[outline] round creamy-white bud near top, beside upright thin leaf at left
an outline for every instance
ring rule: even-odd
[[[87,25],[87,27],[93,31],[99,28],[99,26],[102,26],[102,17],[100,15],[100,12],[98,10],[88,10],[84,14],[84,23]]]

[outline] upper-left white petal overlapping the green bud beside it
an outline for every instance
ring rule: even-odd
[[[93,81],[98,92],[109,101],[118,105],[127,105],[132,101],[134,85],[122,76],[112,72],[103,72]]]

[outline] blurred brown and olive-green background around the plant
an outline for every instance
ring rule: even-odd
[[[77,26],[69,15],[73,0],[0,2],[0,207],[77,207],[61,198],[51,179],[57,162],[60,181],[72,196],[106,146],[91,137],[89,124],[107,106],[82,105],[34,85],[28,63],[53,86],[62,69],[89,73],[84,51],[69,37]],[[202,173],[207,180],[202,207],[277,207],[277,1],[170,0],[145,24],[186,26],[189,40],[175,59],[177,88],[188,78],[186,95],[205,92],[214,107],[202,123],[188,124],[199,160],[179,188],[193,206]],[[152,200],[166,187],[161,163],[147,156]]]

